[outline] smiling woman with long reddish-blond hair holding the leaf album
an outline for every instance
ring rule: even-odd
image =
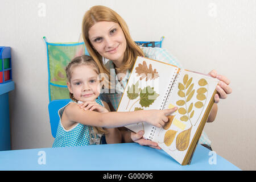
[[[117,109],[137,56],[165,61],[181,68],[178,61],[162,48],[138,47],[131,39],[127,24],[121,16],[105,6],[93,6],[85,13],[82,21],[82,36],[90,56],[101,63],[101,71],[108,73],[109,78],[110,75],[114,76],[112,78],[115,79],[115,85],[110,89],[110,93],[105,92],[100,96],[101,100],[108,102],[112,111]],[[109,60],[106,64],[103,63],[105,59]],[[220,98],[226,98],[232,93],[232,89],[228,78],[218,75],[214,70],[209,75],[220,80],[216,88],[218,93],[214,96],[215,103],[207,121],[213,122],[217,114],[217,103]],[[160,149],[156,142],[145,140],[142,135],[143,131],[135,134],[122,130],[123,142],[137,142]],[[210,140],[204,132],[199,143],[210,146]]]

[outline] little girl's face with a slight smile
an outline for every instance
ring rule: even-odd
[[[92,65],[79,65],[72,69],[71,81],[67,82],[70,93],[78,101],[95,101],[100,95],[100,80]]]

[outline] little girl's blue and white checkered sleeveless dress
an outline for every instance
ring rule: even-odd
[[[73,101],[70,101],[68,104],[71,102]],[[101,100],[96,99],[96,102],[101,106],[104,106]],[[67,105],[58,111],[60,118],[62,117],[63,111]],[[101,135],[96,134],[95,137],[92,126],[77,123],[77,125],[72,129],[65,130],[60,121],[52,147],[88,146],[90,144],[100,144]]]

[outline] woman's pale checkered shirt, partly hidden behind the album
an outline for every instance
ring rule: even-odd
[[[145,57],[148,57],[150,59],[163,61],[172,65],[175,65],[178,68],[183,68],[182,65],[177,61],[176,57],[172,56],[170,53],[166,51],[166,49],[159,48],[159,47],[141,47]],[[107,63],[105,63],[105,67],[110,69],[114,69],[114,64],[111,60],[109,60]],[[115,110],[117,110],[117,107],[119,105],[119,101],[121,101],[122,94],[125,91],[125,86],[127,84],[127,81],[129,79],[130,71],[127,70],[126,76],[122,78],[122,81],[118,80],[117,75],[115,75],[115,92],[112,93],[102,93],[100,95],[100,99],[107,102],[108,104],[112,104]],[[210,146],[211,141],[207,137],[207,134],[203,131],[201,134],[201,137],[199,139],[200,144],[208,144]]]

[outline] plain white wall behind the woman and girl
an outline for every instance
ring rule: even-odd
[[[46,5],[45,16],[40,3]],[[256,169],[256,1],[1,0],[0,45],[10,46],[15,90],[10,96],[13,150],[51,147],[46,45],[76,42],[85,11],[105,5],[127,22],[134,40],[160,40],[185,68],[216,69],[233,93],[205,131],[213,150],[241,169]]]

